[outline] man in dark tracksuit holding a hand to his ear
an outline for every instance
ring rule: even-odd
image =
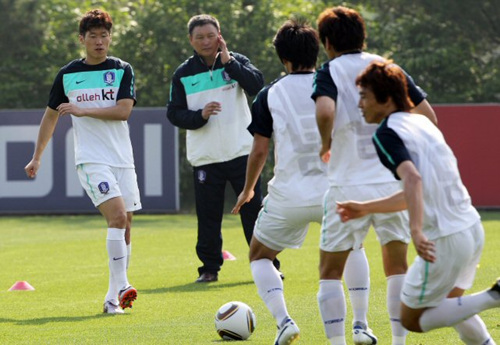
[[[197,282],[218,280],[222,256],[221,224],[224,189],[229,181],[242,191],[252,136],[246,130],[251,114],[245,91],[255,95],[264,85],[262,73],[244,55],[229,52],[212,16],[197,15],[188,22],[194,55],[174,73],[167,117],[185,128],[187,159],[193,166],[198,242],[203,263]],[[247,243],[261,206],[260,181],[253,199],[241,209]],[[279,268],[279,262],[275,263]]]

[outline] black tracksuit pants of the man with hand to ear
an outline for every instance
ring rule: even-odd
[[[236,196],[245,185],[248,156],[241,156],[228,162],[193,167],[196,215],[198,217],[198,241],[196,253],[203,263],[198,273],[217,273],[224,259],[222,257],[222,217],[226,182],[231,184]],[[248,244],[252,239],[255,221],[262,204],[260,178],[255,186],[255,196],[240,209],[241,224]],[[279,261],[275,260],[279,269]]]

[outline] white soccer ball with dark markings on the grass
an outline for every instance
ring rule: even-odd
[[[223,340],[245,340],[255,329],[255,314],[243,302],[229,302],[217,310],[215,329]]]

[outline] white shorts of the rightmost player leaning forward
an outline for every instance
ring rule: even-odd
[[[454,287],[470,289],[484,246],[481,222],[464,231],[434,240],[436,261],[417,256],[406,273],[401,302],[413,309],[435,307]]]

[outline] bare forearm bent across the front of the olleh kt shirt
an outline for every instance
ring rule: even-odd
[[[87,116],[100,120],[127,121],[132,113],[134,100],[131,98],[120,99],[116,105],[107,108],[81,108],[75,104],[62,103],[57,107],[60,116],[73,115]]]

